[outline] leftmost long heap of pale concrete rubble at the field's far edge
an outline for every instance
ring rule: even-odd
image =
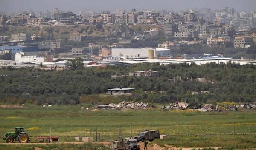
[[[91,109],[117,109],[117,110],[127,110],[127,109],[143,109],[143,108],[149,108],[153,107],[153,105],[143,102],[120,102],[119,104],[108,104],[108,105],[98,105],[95,107],[92,107]]]

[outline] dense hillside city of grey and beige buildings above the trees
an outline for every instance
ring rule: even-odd
[[[61,57],[82,57],[87,61],[101,60],[122,60],[122,59],[172,59],[172,51],[179,51],[182,44],[204,44],[209,47],[215,45],[224,45],[225,42],[231,42],[233,48],[250,48],[253,43],[256,24],[256,12],[247,13],[237,12],[234,8],[221,8],[211,10],[210,8],[187,9],[182,11],[171,10],[147,10],[138,11],[131,9],[116,10],[111,13],[108,10],[100,12],[79,11],[65,12],[56,8],[53,11],[33,12],[21,11],[0,12],[0,55],[11,54],[20,55],[13,58],[13,62],[2,60],[3,64],[23,64],[52,62]],[[90,26],[96,26],[91,28]],[[147,28],[151,25],[151,28]],[[4,35],[10,26],[18,27],[40,27],[40,32],[20,32],[15,31],[11,35]],[[84,27],[77,30],[76,34],[68,31],[61,32],[61,35],[68,38],[56,39],[53,27],[74,26]],[[131,29],[131,26],[138,26],[137,31]],[[145,26],[146,30],[142,31]],[[49,28],[48,28],[49,27]],[[90,28],[89,28],[90,27]],[[106,31],[108,27],[108,31]],[[47,31],[43,35],[42,28]],[[129,29],[128,29],[129,28]],[[92,35],[96,31],[104,35]],[[68,41],[83,42],[88,36],[104,36],[109,44],[98,44],[93,41],[84,46],[68,45]],[[162,36],[170,41],[163,41],[157,46],[145,46],[143,48],[131,47],[125,49],[125,44],[131,44],[136,41],[147,41],[151,37]],[[254,44],[253,44],[254,45]],[[135,48],[135,50],[134,50]],[[60,50],[56,52],[55,50]],[[65,49],[65,50],[61,50]],[[150,50],[154,50],[150,52]],[[154,56],[150,56],[154,53]],[[198,55],[200,57],[209,57],[209,55]],[[214,54],[214,57],[217,55]],[[52,57],[52,59],[49,59]],[[176,56],[177,57],[177,56]],[[188,56],[180,56],[183,59],[189,59]],[[218,54],[222,57],[222,54]],[[46,59],[47,58],[47,59]],[[192,57],[196,59],[195,57]],[[64,59],[61,59],[64,60]],[[11,61],[11,60],[10,60]],[[56,62],[56,61],[55,61]],[[52,65],[52,64],[51,64]]]

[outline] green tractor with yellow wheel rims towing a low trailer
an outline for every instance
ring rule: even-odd
[[[12,143],[15,141],[20,141],[20,143],[26,143],[29,141],[29,136],[26,132],[24,132],[24,127],[15,127],[14,132],[7,132],[5,133],[6,143]]]

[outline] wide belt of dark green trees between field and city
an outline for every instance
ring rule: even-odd
[[[0,69],[0,102],[7,104],[31,103],[42,105],[89,102],[111,103],[142,101],[168,104],[175,101],[189,102],[190,107],[202,103],[253,102],[256,97],[256,65],[208,63],[192,64],[137,64],[108,65],[105,68],[84,68],[70,62],[70,69],[46,71],[38,68]],[[72,68],[72,65],[75,68]],[[111,79],[116,73],[130,71],[160,71],[160,77],[124,76]],[[181,80],[180,80],[181,78]],[[199,82],[197,78],[205,78]],[[175,82],[173,82],[175,79]],[[109,88],[135,88],[131,96],[99,96]],[[148,92],[145,92],[148,91]],[[159,91],[165,91],[159,93]],[[192,95],[192,91],[199,94]],[[209,91],[210,93],[201,93]]]

